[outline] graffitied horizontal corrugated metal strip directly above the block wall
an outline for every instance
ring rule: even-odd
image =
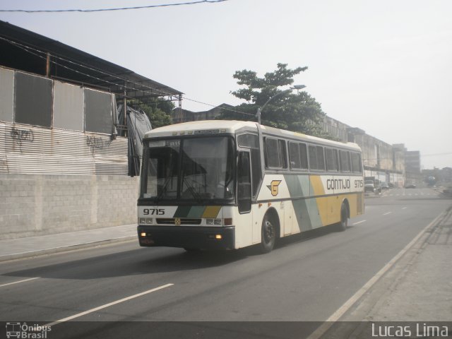
[[[0,173],[127,175],[127,139],[0,123]]]

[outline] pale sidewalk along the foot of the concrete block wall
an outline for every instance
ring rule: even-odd
[[[136,224],[0,240],[0,261],[137,239]]]

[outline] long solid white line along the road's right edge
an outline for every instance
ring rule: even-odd
[[[333,314],[331,314],[331,316],[326,319],[326,321],[324,323],[321,324],[321,326],[319,326],[316,331],[314,331],[313,333],[311,333],[311,335],[309,335],[309,337],[307,339],[319,339],[321,338],[321,336],[323,334],[326,333],[326,331],[328,331],[329,328],[331,328],[331,326],[333,326],[333,323],[335,323],[335,321],[338,321],[340,319],[341,316],[343,316],[345,314],[346,311],[348,311],[350,309],[350,307],[352,307],[355,302],[358,301],[358,299],[360,297],[362,297],[367,291],[369,291],[371,289],[372,286],[375,285],[375,283],[377,281],[380,280],[380,278],[389,270],[391,269],[394,264],[398,261],[398,259],[400,259],[416,242],[417,240],[420,239],[420,237],[422,237],[422,235],[430,228],[432,227],[432,225],[435,224],[435,222],[437,222],[439,220],[439,218],[441,218],[441,216],[444,215],[444,213],[441,213],[440,215],[438,215],[436,218],[434,218],[434,220],[432,222],[429,223],[429,225],[427,225],[424,230],[422,230],[421,232],[419,232],[419,234],[417,234],[417,236],[415,237],[415,239],[412,239],[412,241],[410,242],[410,244],[408,244],[407,246],[405,246],[405,248],[398,252],[398,254],[396,256],[394,256],[391,261],[389,261],[388,263],[386,263],[386,265],[381,268],[381,270],[379,270],[376,275],[374,275],[372,278],[370,278],[370,280],[364,284],[363,287],[361,287],[356,293],[355,295],[352,295],[352,297],[350,297],[350,299],[348,299],[341,307],[339,307],[339,309],[337,311],[335,311]]]

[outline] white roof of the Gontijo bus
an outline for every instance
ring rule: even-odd
[[[181,124],[174,124],[159,127],[145,133],[144,138],[155,138],[165,136],[179,136],[192,133],[206,134],[211,133],[236,133],[237,131],[257,131],[258,124],[254,121],[237,121],[237,120],[199,120],[183,122]],[[328,139],[318,138],[316,136],[309,136],[307,134],[286,131],[284,129],[275,129],[269,126],[261,125],[261,131],[264,134],[273,136],[280,136],[282,138],[292,138],[295,140],[304,139],[304,141],[311,141],[312,143],[320,143],[323,145],[338,146],[340,148],[350,148],[354,150],[361,150],[356,143],[345,143],[340,141],[331,141]]]

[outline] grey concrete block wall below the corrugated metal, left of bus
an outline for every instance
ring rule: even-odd
[[[0,174],[0,239],[136,223],[138,177]]]

